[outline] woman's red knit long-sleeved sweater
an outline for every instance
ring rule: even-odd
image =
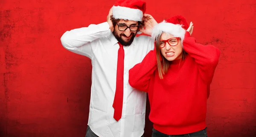
[[[154,129],[169,135],[206,127],[207,88],[220,56],[218,48],[196,43],[187,31],[183,47],[186,58],[172,61],[163,79],[158,75],[155,50],[129,70],[131,87],[148,92]]]

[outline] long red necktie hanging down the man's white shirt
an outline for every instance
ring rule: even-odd
[[[118,58],[117,58],[117,71],[116,71],[116,93],[113,102],[114,119],[118,121],[122,117],[122,104],[123,104],[123,89],[124,89],[124,59],[125,51],[123,45],[119,42]]]

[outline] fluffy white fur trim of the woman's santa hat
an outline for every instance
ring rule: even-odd
[[[158,23],[157,25],[154,26],[151,37],[153,39],[156,39],[157,36],[161,35],[163,32],[172,34],[175,37],[180,37],[181,42],[183,42],[183,39],[186,33],[186,31],[181,27],[181,25],[179,24],[175,25],[163,20],[163,22]]]

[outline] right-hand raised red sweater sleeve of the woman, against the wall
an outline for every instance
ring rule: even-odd
[[[218,64],[220,50],[213,45],[196,43],[195,38],[191,37],[188,31],[183,40],[183,47],[198,64],[199,73],[205,84],[210,84]]]

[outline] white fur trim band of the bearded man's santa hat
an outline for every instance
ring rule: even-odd
[[[115,19],[142,21],[143,18],[141,10],[121,6],[113,6],[112,14]]]

